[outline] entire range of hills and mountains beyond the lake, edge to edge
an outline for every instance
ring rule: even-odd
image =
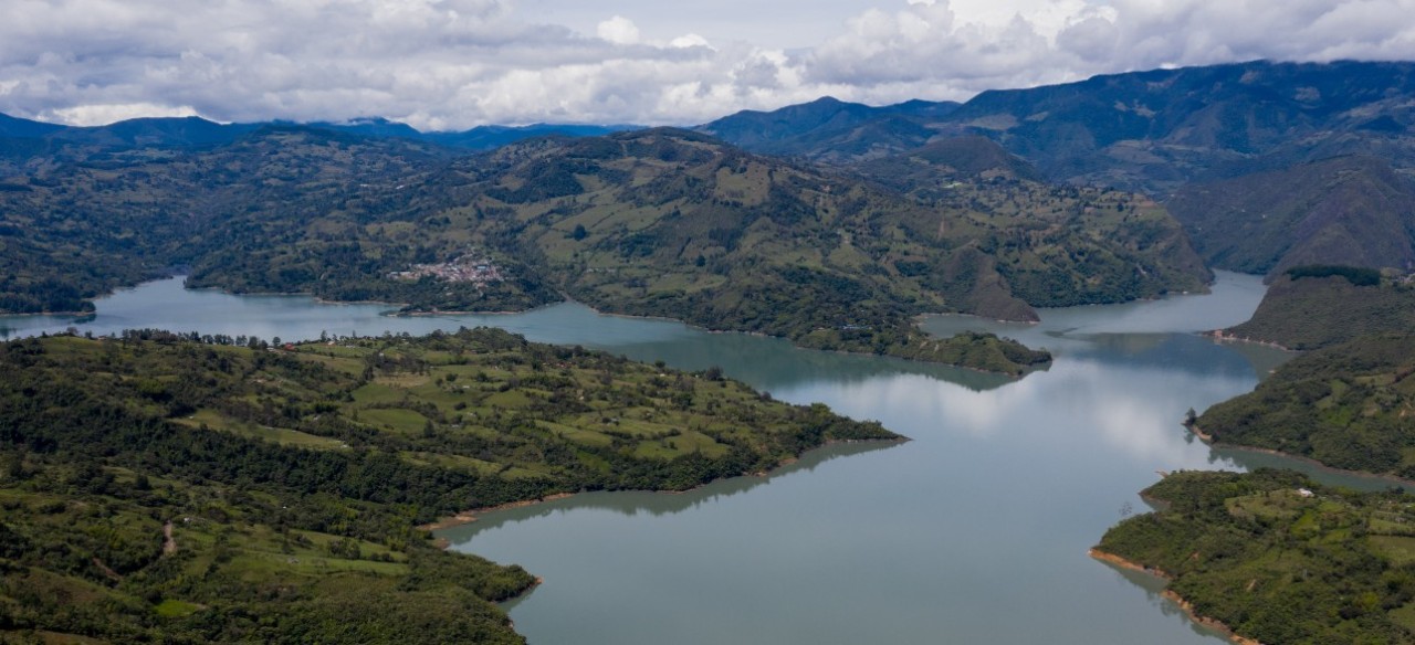
[[[1160,69],[692,129],[3,117],[0,308],[78,310],[191,266],[235,291],[441,311],[566,293],[897,352],[923,311],[1034,320],[1200,290],[1206,265],[1404,270],[1412,71]],[[473,256],[501,280],[388,277]]]

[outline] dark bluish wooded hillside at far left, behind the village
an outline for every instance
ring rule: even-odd
[[[381,221],[406,218],[416,199],[398,190],[434,171],[449,154],[402,140],[375,140],[300,127],[266,127],[209,150],[137,147],[95,153],[81,161],[0,182],[0,310],[76,311],[120,284],[229,257],[224,284],[236,291],[296,290],[334,300],[393,298],[381,277],[457,240],[388,239]],[[417,195],[436,198],[436,195]],[[318,221],[318,225],[311,222]],[[359,231],[382,238],[375,262],[327,273],[321,263],[263,262],[265,249],[306,238],[335,250],[357,249]],[[342,239],[341,239],[342,238]],[[242,273],[249,263],[258,272]],[[516,276],[514,267],[507,274]],[[508,284],[519,284],[508,280]],[[381,289],[382,287],[382,289]],[[491,298],[488,308],[541,304],[553,294],[497,291],[464,284],[423,287],[443,301]],[[415,289],[398,296],[416,301]],[[444,293],[450,291],[450,293]],[[495,300],[508,300],[497,306]]]

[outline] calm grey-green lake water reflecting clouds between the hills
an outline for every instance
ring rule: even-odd
[[[766,478],[682,494],[590,494],[449,529],[453,547],[545,584],[509,605],[555,644],[1215,644],[1160,584],[1087,557],[1156,471],[1298,463],[1218,453],[1179,420],[1248,392],[1288,355],[1194,331],[1248,318],[1258,279],[1208,296],[1043,311],[1037,325],[931,317],[1050,348],[1047,372],[975,372],[809,352],[560,304],[515,315],[392,318],[379,306],[185,291],[98,303],[91,320],[0,318],[0,337],[164,327],[283,339],[497,325],[679,368],[720,365],[775,397],[825,402],[914,440],[826,448]],[[1336,474],[1326,481],[1384,485]]]

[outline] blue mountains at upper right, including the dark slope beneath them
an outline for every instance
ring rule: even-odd
[[[1220,269],[1408,269],[1412,105],[1411,62],[1254,61],[989,91],[947,110],[821,100],[703,127],[846,167],[985,136],[1049,181],[1166,204]]]

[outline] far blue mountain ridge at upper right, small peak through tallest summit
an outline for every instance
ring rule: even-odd
[[[1415,163],[1415,64],[1353,62],[1155,69],[966,103],[869,108],[825,98],[698,126],[751,151],[848,161],[983,134],[1053,181],[1162,197],[1339,154]]]

